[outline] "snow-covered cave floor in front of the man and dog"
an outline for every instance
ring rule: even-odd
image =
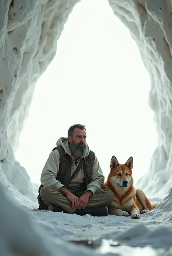
[[[140,219],[93,217],[38,211],[37,185],[27,196],[11,184],[2,185],[10,199],[0,186],[0,203],[4,205],[0,211],[0,255],[172,255],[171,194],[161,208],[140,215]],[[152,203],[161,200],[154,198]],[[11,241],[6,251],[4,234],[6,244]]]

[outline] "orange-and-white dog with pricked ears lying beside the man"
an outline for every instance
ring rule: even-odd
[[[132,179],[133,158],[125,164],[119,164],[116,157],[112,157],[110,174],[103,188],[114,192],[114,200],[108,206],[111,215],[129,216],[139,219],[139,214],[151,211],[157,204],[151,204],[144,192],[133,186]]]

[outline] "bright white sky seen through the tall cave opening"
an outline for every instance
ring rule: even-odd
[[[157,145],[149,90],[150,77],[136,43],[108,1],[82,0],[36,85],[16,159],[40,184],[57,139],[67,137],[70,125],[82,123],[105,178],[112,155],[119,163],[132,156],[136,182],[147,172]]]

